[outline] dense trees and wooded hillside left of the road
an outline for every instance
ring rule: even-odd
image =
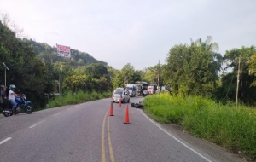
[[[18,34],[9,28],[8,22],[0,21],[0,61],[9,67],[6,85],[15,84],[16,92],[26,94],[36,110],[44,109],[56,93],[95,91],[101,94],[113,89],[113,68],[106,62],[74,49],[71,59],[56,57],[55,48],[47,43],[17,38]],[[0,83],[5,84],[5,67],[1,65]]]

